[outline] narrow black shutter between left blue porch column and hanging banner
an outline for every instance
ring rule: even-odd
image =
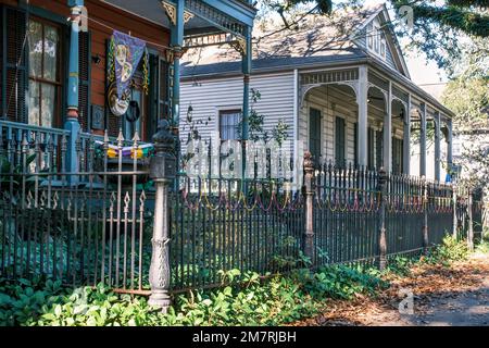
[[[90,79],[91,79],[91,36],[90,33],[79,33],[79,89],[78,89],[78,121],[82,132],[90,132]]]

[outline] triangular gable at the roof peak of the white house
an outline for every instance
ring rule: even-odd
[[[363,48],[367,54],[381,61],[389,67],[410,78],[404,55],[389,23],[392,23],[387,12],[383,9],[367,18],[353,35],[353,41]],[[379,33],[379,35],[376,35]]]

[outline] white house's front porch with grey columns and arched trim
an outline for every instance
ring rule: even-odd
[[[419,176],[432,166],[432,178],[444,181],[442,170],[449,173],[452,164],[452,114],[414,84],[367,64],[304,71],[299,80],[297,137],[316,161]],[[427,163],[431,141],[436,156]],[[419,164],[412,167],[415,151]]]

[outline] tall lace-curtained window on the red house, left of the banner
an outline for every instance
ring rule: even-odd
[[[60,40],[60,28],[54,24],[40,20],[29,21],[29,124],[53,127],[59,123]]]

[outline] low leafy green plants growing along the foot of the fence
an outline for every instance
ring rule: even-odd
[[[327,297],[373,294],[380,284],[378,278],[347,266],[267,276],[221,272],[226,287],[177,296],[165,315],[146,298],[115,295],[101,285],[68,291],[51,281],[36,289],[27,281],[21,285],[4,281],[0,325],[279,325],[318,313]]]

